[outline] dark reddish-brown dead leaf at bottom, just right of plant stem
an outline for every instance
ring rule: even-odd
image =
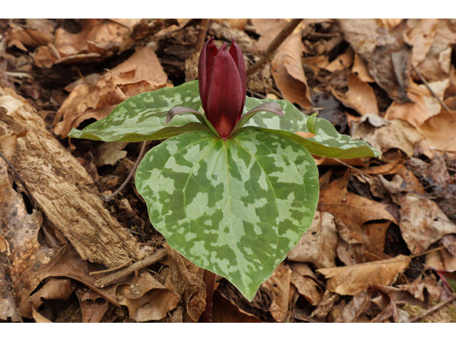
[[[261,323],[261,321],[254,315],[239,309],[220,291],[215,290],[212,299],[212,323]]]

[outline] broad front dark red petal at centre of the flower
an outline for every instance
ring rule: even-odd
[[[227,138],[232,132],[244,102],[239,71],[227,51],[227,43],[223,43],[212,68],[205,111],[207,119],[222,138]]]

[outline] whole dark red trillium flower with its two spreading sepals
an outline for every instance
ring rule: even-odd
[[[239,123],[243,125],[260,110],[284,115],[277,103],[269,102],[257,106],[242,117],[247,95],[247,76],[244,56],[233,37],[229,51],[227,43],[217,49],[214,37],[204,44],[199,55],[198,86],[204,115],[220,138],[229,138],[239,120],[244,118]],[[191,108],[171,108],[167,113],[167,123],[176,114],[184,112],[200,114]]]

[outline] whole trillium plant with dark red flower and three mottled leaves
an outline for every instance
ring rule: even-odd
[[[170,247],[252,301],[314,218],[318,170],[312,155],[380,153],[289,101],[247,97],[241,49],[234,39],[229,50],[227,43],[217,49],[213,39],[199,57],[198,81],[128,98],[70,137],[167,139],[136,171],[150,222]]]

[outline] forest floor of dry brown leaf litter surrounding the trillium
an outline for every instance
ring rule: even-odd
[[[234,37],[249,68],[287,22],[214,19],[202,34]],[[0,321],[199,320],[203,270],[152,227],[134,177],[103,201],[142,144],[68,133],[195,80],[202,26],[0,20],[0,150],[22,178],[0,159]],[[454,19],[304,19],[247,79],[247,95],[318,112],[383,156],[314,157],[309,231],[252,302],[217,277],[213,321],[456,322],[455,47]]]

